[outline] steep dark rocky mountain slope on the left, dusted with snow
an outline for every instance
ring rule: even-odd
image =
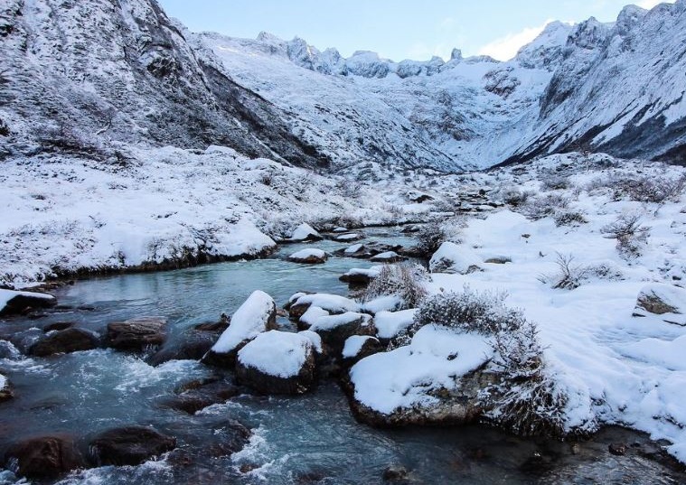
[[[316,166],[287,117],[185,41],[155,2],[10,0],[0,14],[3,154],[117,144],[205,148]]]

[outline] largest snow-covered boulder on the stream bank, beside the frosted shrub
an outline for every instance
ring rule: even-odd
[[[492,352],[482,335],[423,327],[409,346],[350,369],[353,412],[370,424],[467,423],[480,413],[475,370]]]

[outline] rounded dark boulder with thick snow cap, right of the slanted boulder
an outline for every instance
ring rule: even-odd
[[[236,359],[240,383],[264,394],[303,394],[314,385],[315,375],[312,340],[299,333],[261,333]]]

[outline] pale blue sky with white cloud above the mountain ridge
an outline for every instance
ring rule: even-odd
[[[613,22],[627,0],[158,0],[193,32],[255,38],[266,31],[348,57],[376,51],[393,61],[488,54],[511,59],[546,23],[590,16]],[[651,8],[659,0],[637,0]],[[673,2],[672,2],[673,3]]]

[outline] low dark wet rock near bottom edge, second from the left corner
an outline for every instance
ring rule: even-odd
[[[115,428],[90,440],[91,459],[98,466],[138,465],[174,450],[176,438],[143,426]]]

